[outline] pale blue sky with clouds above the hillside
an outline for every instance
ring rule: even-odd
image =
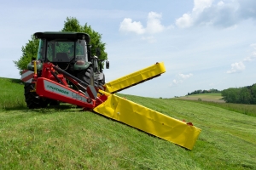
[[[61,31],[67,17],[102,34],[106,81],[164,62],[166,73],[122,91],[154,98],[256,82],[255,0],[3,1],[0,77],[20,78],[13,60],[37,31]]]

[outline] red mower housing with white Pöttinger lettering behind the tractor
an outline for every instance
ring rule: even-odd
[[[39,97],[79,105],[85,109],[93,109],[108,99],[104,94],[99,97],[97,96],[98,88],[90,85],[88,87],[83,87],[77,81],[77,78],[75,80],[75,77],[72,76],[64,77],[62,74],[55,71],[54,68],[56,68],[56,66],[52,63],[44,63],[41,77],[35,77],[36,80],[33,80],[33,82],[36,83],[36,93]],[[61,72],[68,74],[62,70]],[[85,92],[69,88],[66,78],[75,85],[84,88]]]

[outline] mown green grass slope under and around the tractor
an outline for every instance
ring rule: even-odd
[[[200,127],[194,150],[186,150],[73,105],[28,110],[19,82],[1,78],[0,86],[10,90],[0,96],[0,169],[256,169],[253,116],[118,94]]]

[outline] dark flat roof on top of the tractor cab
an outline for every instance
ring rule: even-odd
[[[90,42],[90,36],[83,32],[62,32],[62,31],[45,31],[45,32],[36,32],[34,37],[42,38],[47,40],[53,39],[68,39],[68,40],[77,40],[85,39],[87,43]]]

